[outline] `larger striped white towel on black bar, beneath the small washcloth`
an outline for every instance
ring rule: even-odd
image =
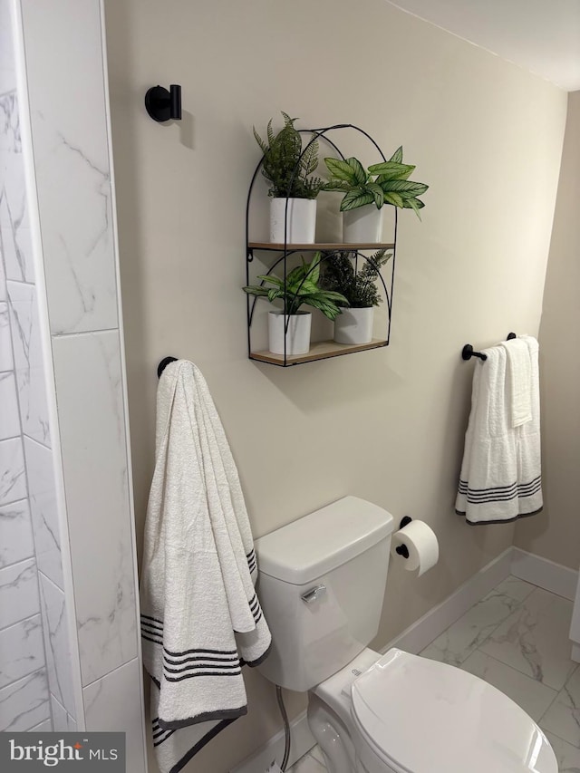
[[[537,342],[526,342],[531,367],[532,419],[511,426],[511,389],[503,346],[484,350],[473,374],[471,412],[455,509],[469,523],[509,521],[542,509]]]

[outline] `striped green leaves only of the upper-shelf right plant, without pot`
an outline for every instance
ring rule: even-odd
[[[414,166],[403,164],[402,146],[395,150],[388,161],[373,164],[365,170],[355,158],[346,160],[324,159],[331,173],[331,179],[323,190],[338,190],[344,193],[341,212],[375,204],[377,209],[385,204],[393,207],[410,208],[420,219],[419,210],[424,203],[418,198],[428,185],[412,182],[409,178]]]

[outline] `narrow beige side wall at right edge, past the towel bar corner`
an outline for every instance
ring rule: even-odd
[[[580,565],[580,92],[568,97],[562,171],[540,327],[545,517],[517,525],[516,545]]]

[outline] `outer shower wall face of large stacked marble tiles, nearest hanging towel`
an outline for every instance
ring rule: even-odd
[[[102,6],[99,0],[13,2],[21,7],[24,30],[83,720],[86,730],[126,731],[128,773],[143,773],[131,470]],[[40,463],[37,455],[31,465],[34,462]],[[51,584],[41,583],[41,601],[60,652],[61,598],[48,569],[46,576]],[[50,667],[48,671],[50,678]],[[67,709],[68,696],[62,698],[59,703]]]

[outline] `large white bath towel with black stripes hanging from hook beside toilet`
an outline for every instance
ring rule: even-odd
[[[243,663],[271,637],[254,588],[254,543],[237,468],[198,368],[161,374],[145,524],[141,637],[161,773],[177,773],[247,713]]]

